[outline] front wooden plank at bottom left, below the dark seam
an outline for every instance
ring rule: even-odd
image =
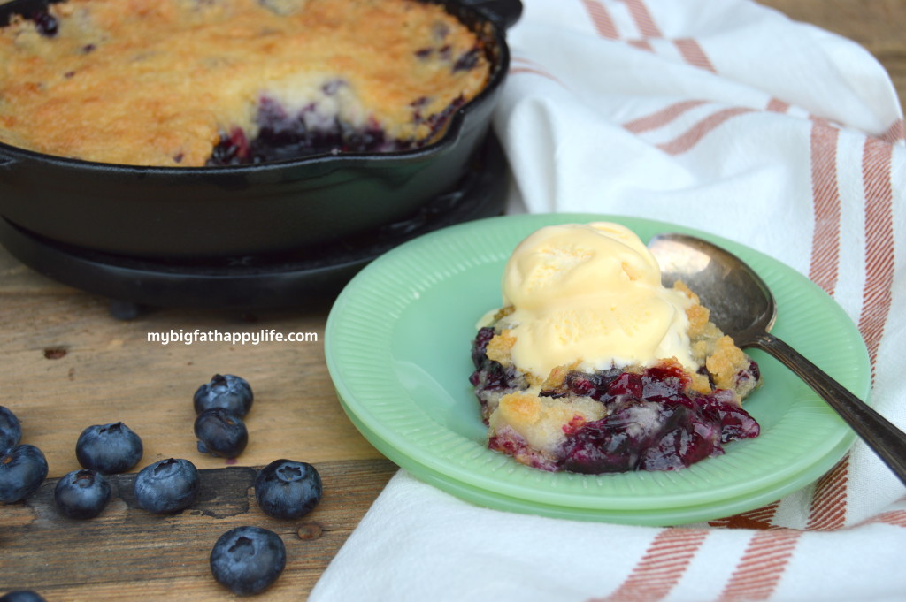
[[[25,502],[0,509],[0,592],[32,588],[48,600],[73,602],[223,598],[228,592],[207,564],[210,549],[226,530],[255,525],[275,531],[287,549],[284,574],[260,599],[304,599],[396,471],[387,460],[316,467],[323,500],[296,521],[270,518],[258,508],[255,468],[202,470],[198,501],[170,516],[137,506],[134,474],[114,475],[110,505],[88,521],[56,511],[57,480],[49,479]]]

